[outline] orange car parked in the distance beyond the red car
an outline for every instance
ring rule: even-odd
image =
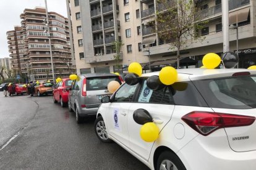
[[[33,95],[38,95],[39,97],[41,95],[48,95],[53,94],[53,83],[38,83],[34,86],[35,91]]]

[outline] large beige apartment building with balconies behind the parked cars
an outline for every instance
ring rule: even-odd
[[[149,70],[150,67],[153,71],[167,65],[176,65],[176,49],[161,40],[153,31],[156,11],[163,9],[163,4],[157,0],[68,2],[71,14],[79,11],[82,22],[84,59],[76,57],[75,61],[79,64],[78,73],[82,73],[81,70],[91,73],[116,71],[113,42],[119,39],[124,43],[120,62],[122,71],[127,71],[130,62],[139,62],[143,70]],[[74,3],[77,3],[75,9],[71,5]],[[198,30],[198,35],[203,37],[203,41],[188,41],[182,49],[181,68],[200,67],[203,55],[208,52],[221,55],[223,52],[221,0],[194,0],[194,3],[198,8],[198,15],[203,20],[208,20],[208,23],[205,28]],[[254,0],[229,0],[229,24],[233,25],[231,28],[238,24],[239,67],[247,68],[256,63],[254,13]],[[72,28],[73,33],[77,31],[74,25]],[[236,52],[236,30],[229,30],[229,39],[230,51]],[[74,50],[77,51],[76,48]]]

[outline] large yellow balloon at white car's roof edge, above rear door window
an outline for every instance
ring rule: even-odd
[[[164,67],[159,73],[161,83],[171,85],[177,81],[177,70],[173,67]]]

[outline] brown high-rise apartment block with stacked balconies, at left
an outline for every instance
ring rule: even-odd
[[[56,77],[69,76],[74,69],[68,19],[56,12],[48,12],[48,16],[49,30],[45,8],[25,9],[20,14],[21,26],[7,31],[12,69],[26,73],[33,80],[53,79],[49,38]]]

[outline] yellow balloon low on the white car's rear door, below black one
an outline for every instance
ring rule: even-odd
[[[155,123],[149,122],[143,124],[140,128],[140,137],[145,142],[154,142],[158,139],[159,129]]]

